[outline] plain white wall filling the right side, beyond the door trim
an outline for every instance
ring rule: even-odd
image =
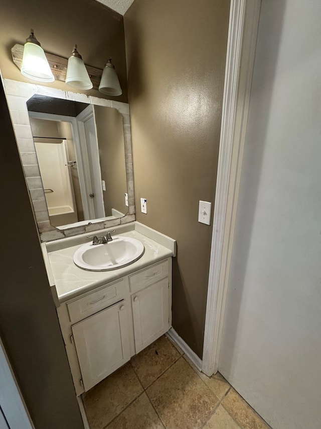
[[[219,371],[321,427],[321,2],[262,0]]]

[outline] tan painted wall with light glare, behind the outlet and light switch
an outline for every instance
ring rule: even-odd
[[[228,0],[135,0],[124,16],[136,216],[177,239],[173,326],[202,357]],[[147,215],[140,198],[147,199]]]

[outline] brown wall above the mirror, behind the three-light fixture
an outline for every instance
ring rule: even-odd
[[[68,58],[73,45],[77,43],[85,63],[101,69],[111,56],[123,91],[122,96],[115,97],[114,100],[127,102],[125,41],[121,15],[93,0],[1,0],[0,69],[3,77],[31,82],[20,73],[11,55],[11,48],[16,43],[25,43],[30,28],[35,30],[44,50],[52,54]],[[59,81],[46,86],[74,91]],[[104,98],[94,90],[77,92]]]

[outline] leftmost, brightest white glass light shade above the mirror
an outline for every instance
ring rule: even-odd
[[[21,73],[29,79],[40,82],[55,80],[43,48],[31,42],[25,43]]]

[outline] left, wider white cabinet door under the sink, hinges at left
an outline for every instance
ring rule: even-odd
[[[71,327],[85,391],[130,359],[126,305],[119,302]]]

